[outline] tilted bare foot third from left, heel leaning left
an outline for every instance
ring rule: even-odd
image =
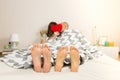
[[[61,72],[65,58],[67,57],[68,47],[61,47],[58,50],[55,71]]]

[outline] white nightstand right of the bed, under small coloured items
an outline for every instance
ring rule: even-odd
[[[113,46],[113,47],[103,47],[99,46],[98,49],[102,51],[104,54],[116,59],[118,58],[119,54],[119,47]]]

